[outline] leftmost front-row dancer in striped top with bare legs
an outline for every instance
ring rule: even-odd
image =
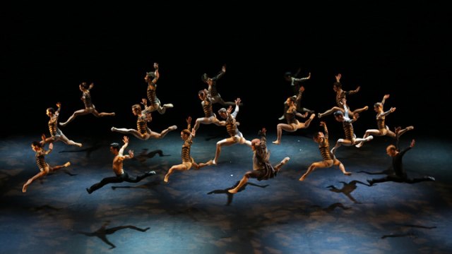
[[[45,137],[43,136],[42,138],[45,138]],[[23,193],[27,192],[28,186],[36,179],[40,179],[41,177],[46,176],[47,174],[49,174],[49,172],[57,171],[58,169],[71,166],[71,162],[66,162],[65,164],[63,164],[61,166],[54,166],[54,167],[50,166],[49,164],[47,164],[47,162],[45,162],[45,158],[44,158],[45,155],[48,155],[54,149],[53,143],[49,144],[49,150],[47,150],[47,151],[44,150],[44,145],[42,145],[39,141],[33,141],[31,143],[31,148],[33,151],[36,152],[35,159],[36,159],[37,167],[40,168],[40,172],[37,173],[32,178],[28,179],[28,181],[23,185],[23,187],[22,187]]]

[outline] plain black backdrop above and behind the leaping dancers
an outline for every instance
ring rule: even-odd
[[[355,123],[357,135],[376,127],[373,104],[385,94],[391,97],[384,109],[397,108],[386,120],[391,128],[413,125],[418,134],[444,135],[447,126],[451,16],[443,6],[30,7],[3,10],[2,135],[48,133],[45,110],[56,102],[62,103],[59,120],[66,121],[83,109],[83,81],[95,83],[97,110],[117,116],[80,116],[61,128],[66,135],[135,128],[131,105],[145,97],[143,78],[153,62],[160,63],[157,97],[174,104],[164,115],[153,114],[155,131],[203,116],[201,75],[215,75],[224,63],[218,90],[225,101],[242,98],[242,131],[276,130],[292,95],[283,74],[297,68],[300,76],[311,72],[302,104],[316,112],[335,105],[335,73],[343,74],[344,90],[361,85],[347,99],[352,109],[369,106]],[[333,116],[325,120],[342,131]],[[315,131],[318,120],[313,124]]]

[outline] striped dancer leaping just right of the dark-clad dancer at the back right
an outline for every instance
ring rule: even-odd
[[[355,93],[359,92],[359,90],[361,89],[360,86],[358,86],[356,88],[356,90],[350,90],[345,92],[344,90],[342,90],[342,84],[340,83],[340,78],[342,78],[342,74],[338,73],[338,75],[335,75],[336,78],[336,82],[333,83],[333,90],[336,92],[336,104],[337,106],[332,107],[331,109],[328,109],[327,111],[323,112],[323,113],[319,113],[317,115],[317,117],[319,117],[319,119],[321,119],[323,116],[328,116],[330,114],[333,114],[335,111],[343,111],[344,109],[348,110],[348,114],[350,115],[351,118],[353,118],[354,114],[359,114],[362,111],[366,111],[367,109],[369,109],[369,107],[365,106],[362,107],[361,109],[355,109],[354,111],[350,110],[350,107],[347,105],[347,101],[346,101],[346,97],[347,95],[354,95]]]

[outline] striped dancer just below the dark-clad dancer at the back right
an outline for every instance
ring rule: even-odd
[[[287,123],[278,123],[276,126],[277,129],[277,138],[273,141],[273,144],[280,145],[281,143],[281,135],[283,135],[283,130],[287,132],[295,132],[300,128],[308,128],[312,119],[316,116],[316,114],[311,114],[309,119],[304,123],[300,123],[295,116],[306,118],[308,116],[308,112],[301,114],[297,111],[297,105],[295,104],[294,97],[288,97],[286,100],[287,103],[287,111],[285,112],[285,119]]]

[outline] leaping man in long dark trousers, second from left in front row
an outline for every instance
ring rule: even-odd
[[[124,136],[122,139],[122,142],[124,142],[124,145],[122,145],[121,148],[119,148],[118,143],[112,143],[110,145],[110,152],[114,155],[113,158],[113,171],[116,176],[112,177],[106,177],[105,179],[102,179],[99,183],[93,184],[90,188],[86,188],[86,191],[88,191],[89,194],[93,193],[93,191],[96,191],[99,188],[102,188],[108,183],[122,183],[124,181],[128,183],[138,183],[139,181],[145,179],[145,177],[153,176],[155,175],[155,171],[148,171],[145,174],[141,174],[138,176],[129,176],[126,171],[124,171],[122,165],[124,162],[124,159],[131,159],[133,158],[133,150],[129,150],[129,155],[123,155],[124,150],[129,145],[129,138],[127,136]]]

